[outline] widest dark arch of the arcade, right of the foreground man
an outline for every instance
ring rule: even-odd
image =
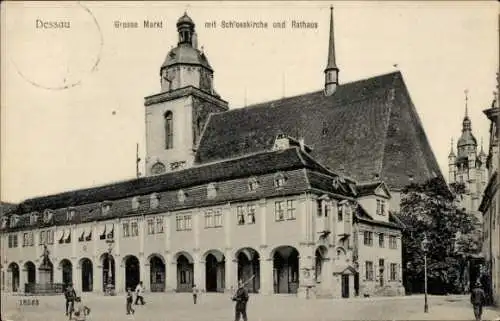
[[[292,246],[280,246],[273,252],[274,293],[297,293],[299,251]]]

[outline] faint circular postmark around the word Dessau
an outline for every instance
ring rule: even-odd
[[[89,8],[66,2],[19,4],[10,5],[6,25],[9,60],[20,77],[35,87],[64,90],[97,70],[104,38]]]

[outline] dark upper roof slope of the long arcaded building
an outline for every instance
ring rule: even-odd
[[[177,191],[210,182],[234,180],[241,177],[301,168],[335,176],[299,148],[289,148],[247,155],[158,176],[29,199],[17,207],[16,213],[41,212],[45,209],[58,209],[106,200],[118,200],[154,192]]]

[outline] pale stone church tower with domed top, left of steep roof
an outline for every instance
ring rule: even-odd
[[[192,166],[209,114],[228,109],[214,90],[213,69],[198,49],[195,24],[186,13],[177,21],[177,32],[177,47],[160,67],[161,91],[144,102],[146,176]]]

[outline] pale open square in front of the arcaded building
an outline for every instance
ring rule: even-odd
[[[20,307],[26,297],[2,295],[2,320],[62,321],[63,296],[37,297],[38,307]],[[91,309],[88,320],[98,321],[214,321],[234,320],[233,303],[228,294],[201,295],[194,305],[189,294],[147,294],[146,305],[134,306],[134,315],[125,314],[125,298],[83,295]],[[429,299],[430,311],[423,313],[423,296],[363,299],[305,300],[294,296],[253,295],[248,306],[251,321],[290,320],[473,320],[468,296],[435,297]],[[500,311],[486,308],[484,320],[500,319]]]

